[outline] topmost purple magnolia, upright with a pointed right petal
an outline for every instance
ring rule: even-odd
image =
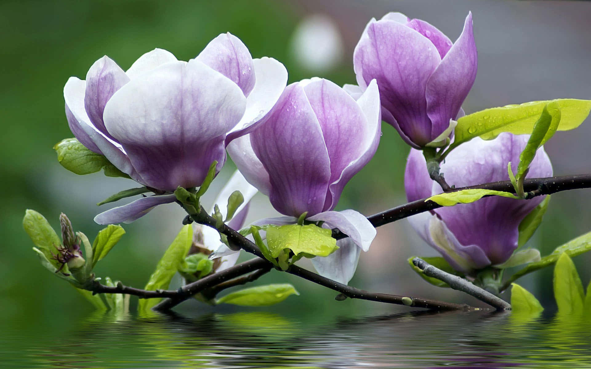
[[[353,54],[357,86],[377,80],[382,118],[414,148],[441,146],[476,78],[472,14],[455,43],[420,19],[388,13],[365,27]]]

